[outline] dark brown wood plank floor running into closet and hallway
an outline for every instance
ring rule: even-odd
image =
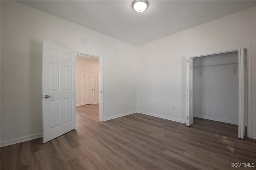
[[[256,140],[238,127],[194,118],[194,124],[139,113],[98,121],[98,105],[77,107],[77,129],[1,148],[1,170],[211,170],[256,163]],[[241,169],[241,168],[236,168]],[[250,168],[244,168],[250,169]]]

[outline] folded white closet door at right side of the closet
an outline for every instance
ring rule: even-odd
[[[238,50],[238,84],[239,84],[239,103],[238,103],[238,138],[244,139],[245,136],[245,49]]]

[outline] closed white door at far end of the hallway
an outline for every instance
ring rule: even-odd
[[[84,72],[84,105],[93,104],[94,101],[94,75],[93,72]]]

